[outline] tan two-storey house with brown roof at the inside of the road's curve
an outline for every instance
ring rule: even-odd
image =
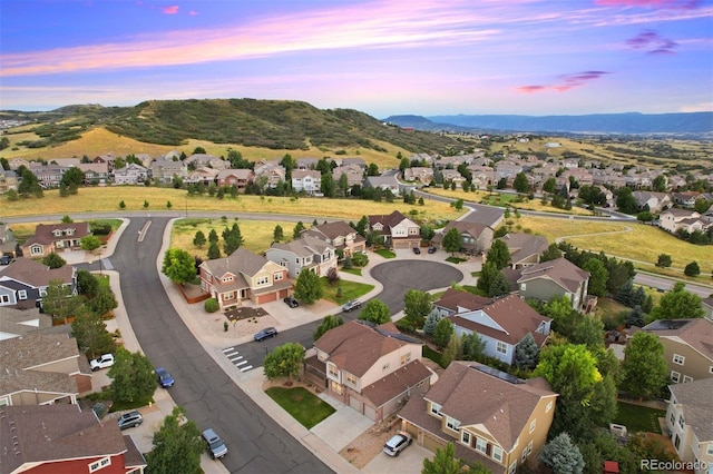
[[[286,268],[242,247],[225,258],[202,263],[199,269],[201,288],[218,300],[221,309],[246,299],[256,305],[274,302],[292,288]]]

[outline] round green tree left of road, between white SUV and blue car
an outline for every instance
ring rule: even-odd
[[[148,399],[156,389],[156,373],[148,357],[117,347],[114,365],[107,373],[111,378],[111,397],[115,402]]]

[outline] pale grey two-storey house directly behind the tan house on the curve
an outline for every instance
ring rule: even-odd
[[[310,235],[285,244],[274,243],[265,250],[265,257],[286,268],[291,278],[296,278],[303,269],[320,277],[326,276],[331,268],[336,269],[334,247]]]

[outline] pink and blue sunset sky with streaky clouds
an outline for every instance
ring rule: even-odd
[[[713,0],[0,0],[0,109],[713,110]]]

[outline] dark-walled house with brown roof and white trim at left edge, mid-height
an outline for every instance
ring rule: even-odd
[[[29,258],[17,258],[0,274],[0,307],[33,308],[41,305],[42,297],[52,280],[59,280],[77,294],[77,269],[71,265],[50,268]]]

